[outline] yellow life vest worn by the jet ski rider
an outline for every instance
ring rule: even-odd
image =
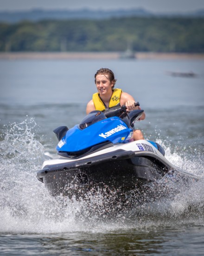
[[[115,107],[116,105],[120,104],[121,93],[122,93],[121,89],[115,88],[113,90],[113,94],[112,94],[111,99],[109,101],[108,108],[112,108],[112,107]],[[102,99],[100,98],[99,93],[93,94],[92,100],[94,102],[94,106],[95,106],[96,110],[103,111],[103,110],[106,109],[106,106],[103,103]]]

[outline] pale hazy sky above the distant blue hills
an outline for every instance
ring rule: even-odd
[[[129,9],[145,8],[152,12],[187,12],[204,8],[203,0],[0,0],[0,11],[44,9]]]

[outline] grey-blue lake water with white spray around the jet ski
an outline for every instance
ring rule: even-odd
[[[56,156],[52,130],[83,119],[101,67],[140,102],[145,137],[201,178],[108,219],[85,202],[51,197],[36,178],[46,155]],[[204,60],[0,60],[0,177],[1,255],[203,255]]]

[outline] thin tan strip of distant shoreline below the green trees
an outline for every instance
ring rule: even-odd
[[[121,53],[118,52],[16,52],[0,53],[0,59],[6,60],[83,60],[83,59],[103,59],[116,60],[120,59]],[[202,54],[190,53],[135,53],[138,60],[174,60],[174,59],[204,59]]]

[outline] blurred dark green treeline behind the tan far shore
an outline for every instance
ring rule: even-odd
[[[0,23],[1,52],[204,53],[204,18],[114,18]]]

